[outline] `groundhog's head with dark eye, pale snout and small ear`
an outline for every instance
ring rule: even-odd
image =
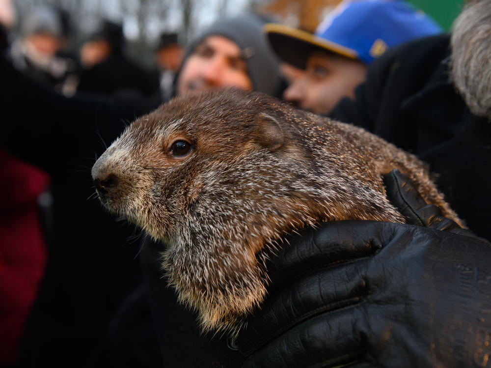
[[[133,122],[97,160],[92,177],[99,198],[154,238],[172,236],[201,196],[214,196],[210,184],[233,190],[242,178],[252,185],[261,171],[252,160],[287,146],[292,137],[278,123],[278,104],[228,89],[162,105]]]

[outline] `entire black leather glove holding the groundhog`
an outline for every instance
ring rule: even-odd
[[[417,226],[340,221],[290,238],[237,340],[244,367],[491,367],[491,244],[401,173],[386,185]]]

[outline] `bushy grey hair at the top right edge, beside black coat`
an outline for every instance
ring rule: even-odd
[[[491,119],[491,0],[468,3],[451,38],[452,78],[470,111]]]

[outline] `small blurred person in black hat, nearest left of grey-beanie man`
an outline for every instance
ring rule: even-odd
[[[162,100],[170,100],[174,79],[183,59],[183,48],[178,42],[177,33],[162,33],[155,50],[155,60],[159,71]]]

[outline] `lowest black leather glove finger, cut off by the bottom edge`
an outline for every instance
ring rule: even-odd
[[[337,367],[354,363],[366,350],[364,325],[360,305],[320,314],[255,351],[243,367]]]

